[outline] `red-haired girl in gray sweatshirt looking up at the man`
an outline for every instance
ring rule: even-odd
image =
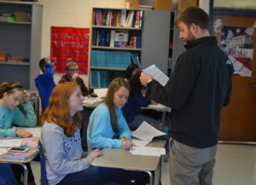
[[[44,148],[49,185],[116,184],[117,169],[90,166],[102,155],[96,149],[86,156],[81,147],[80,128],[84,97],[73,82],[57,84],[43,114],[41,143]],[[109,182],[113,180],[112,182]]]

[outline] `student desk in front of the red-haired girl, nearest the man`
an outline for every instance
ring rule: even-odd
[[[148,147],[164,147],[165,140],[150,142]],[[149,176],[149,185],[159,185],[161,157],[132,155],[129,150],[104,148],[103,155],[93,159],[91,165],[119,168],[126,171],[145,171]],[[154,171],[154,175],[151,171]]]

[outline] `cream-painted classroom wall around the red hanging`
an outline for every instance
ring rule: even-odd
[[[38,0],[44,5],[42,58],[50,53],[50,26],[90,27],[92,7],[125,8],[125,0]],[[62,74],[55,74],[58,83]],[[87,83],[87,75],[83,75]]]

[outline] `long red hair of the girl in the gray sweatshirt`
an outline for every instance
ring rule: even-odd
[[[81,128],[81,114],[70,116],[68,98],[79,85],[73,82],[57,84],[49,98],[49,106],[42,116],[42,123],[50,122],[61,126],[67,136],[73,136]]]

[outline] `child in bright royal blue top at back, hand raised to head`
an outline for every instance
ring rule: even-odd
[[[53,76],[55,67],[54,60],[50,56],[45,57],[39,61],[39,67],[43,74],[40,74],[37,78],[35,78],[35,84],[38,88],[39,96],[41,98],[42,113],[44,113],[44,110],[46,107],[48,107],[49,95],[55,88],[55,81]]]

